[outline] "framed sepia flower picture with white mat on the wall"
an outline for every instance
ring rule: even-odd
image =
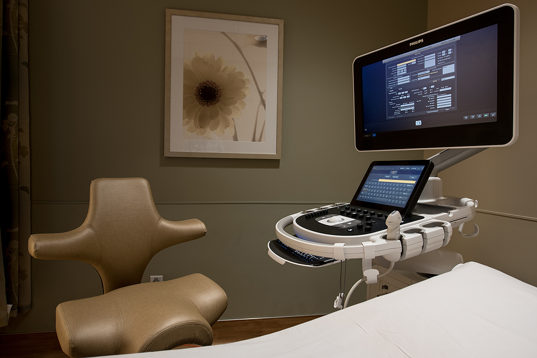
[[[284,20],[166,9],[164,155],[281,159]]]

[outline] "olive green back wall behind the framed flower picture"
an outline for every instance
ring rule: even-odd
[[[29,6],[32,233],[81,225],[91,180],[144,177],[165,219],[199,218],[208,227],[205,237],[158,253],[144,281],[204,273],[229,296],[222,319],[333,311],[339,266],[282,266],[266,245],[288,214],[350,200],[369,162],[422,158],[419,151],[354,150],[351,64],[425,31],[427,2],[31,0]],[[281,160],[164,158],[166,8],[285,20]],[[0,333],[52,331],[58,303],[101,293],[87,264],[33,260],[32,268],[32,310]],[[360,261],[353,260],[347,290],[360,276]],[[353,299],[365,300],[365,287]]]

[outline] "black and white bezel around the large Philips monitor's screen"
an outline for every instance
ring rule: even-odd
[[[429,32],[358,56],[353,62],[354,138],[358,151],[423,150],[511,145],[518,137],[518,8],[511,4],[478,13]],[[496,122],[363,133],[361,69],[409,51],[415,41],[429,46],[487,26],[498,25],[498,117]],[[500,70],[501,69],[501,70]]]

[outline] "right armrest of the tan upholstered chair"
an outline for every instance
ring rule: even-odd
[[[205,224],[198,219],[169,221],[161,219],[151,242],[151,254],[182,242],[195,240],[207,233]]]

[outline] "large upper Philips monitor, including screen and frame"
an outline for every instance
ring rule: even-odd
[[[518,23],[506,4],[355,58],[357,150],[514,143]]]

